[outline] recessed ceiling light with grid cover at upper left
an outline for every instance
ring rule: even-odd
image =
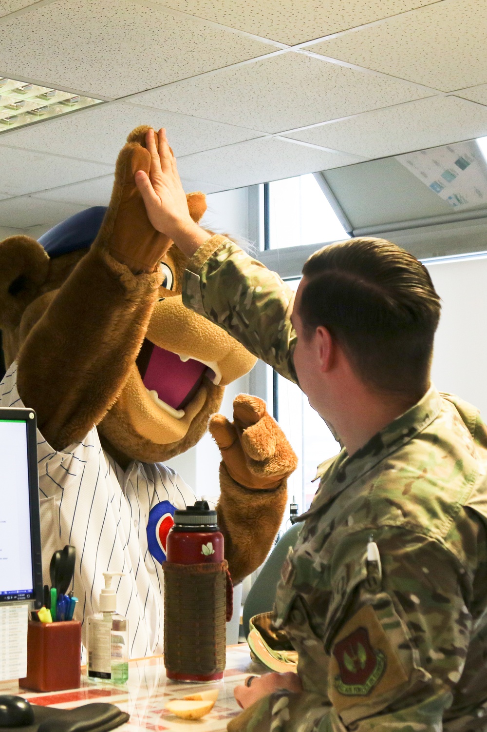
[[[100,102],[100,99],[0,76],[0,134]]]

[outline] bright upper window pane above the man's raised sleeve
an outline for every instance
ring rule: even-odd
[[[268,247],[349,239],[312,173],[268,183]]]

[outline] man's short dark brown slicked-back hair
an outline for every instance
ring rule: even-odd
[[[325,326],[364,383],[423,396],[440,313],[426,267],[396,244],[360,237],[315,252],[303,275],[306,335]]]

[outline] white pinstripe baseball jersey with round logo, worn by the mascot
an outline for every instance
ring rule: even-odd
[[[0,406],[23,407],[14,362],[0,384]],[[82,442],[56,452],[37,430],[42,567],[75,546],[75,617],[86,624],[99,611],[102,572],[124,572],[117,610],[129,619],[129,655],[162,653],[164,580],[160,561],[176,508],[195,502],[184,480],[161,463],[132,462],[126,471],[102,449],[96,427]]]

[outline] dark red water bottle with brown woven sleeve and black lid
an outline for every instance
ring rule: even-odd
[[[216,511],[206,501],[175,512],[162,567],[167,678],[222,679],[226,622],[233,609],[232,583]]]

